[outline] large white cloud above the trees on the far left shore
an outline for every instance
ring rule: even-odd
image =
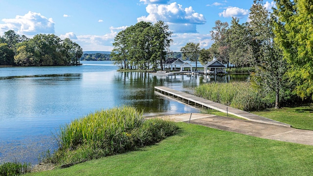
[[[52,18],[46,18],[40,13],[29,11],[24,16],[17,15],[15,19],[2,19],[0,34],[8,30],[14,30],[19,35],[36,35],[39,33],[54,33],[54,22]]]

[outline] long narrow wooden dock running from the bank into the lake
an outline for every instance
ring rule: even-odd
[[[272,125],[279,125],[279,126],[285,126],[285,127],[291,127],[289,124],[285,124],[282,122],[278,122],[266,117],[262,117],[259,115],[255,115],[250,112],[246,112],[244,110],[238,110],[229,106],[222,105],[220,103],[216,103],[210,100],[206,100],[204,98],[197,97],[195,95],[191,95],[188,93],[184,93],[178,90],[174,90],[172,88],[167,87],[155,87],[155,91],[159,92],[163,95],[167,95],[171,98],[180,100],[188,105],[192,106],[199,106],[202,108],[210,108],[213,110],[218,110],[224,113],[232,114],[237,117],[241,117],[250,121],[260,122],[260,123],[266,123],[266,124],[272,124]]]

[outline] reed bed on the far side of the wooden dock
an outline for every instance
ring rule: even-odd
[[[249,82],[203,84],[195,89],[195,95],[240,110],[262,110],[265,106]]]

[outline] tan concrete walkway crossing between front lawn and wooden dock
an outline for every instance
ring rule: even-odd
[[[188,123],[190,113],[164,115],[158,118]],[[265,139],[313,145],[313,131],[309,130],[201,113],[192,113],[190,123]]]

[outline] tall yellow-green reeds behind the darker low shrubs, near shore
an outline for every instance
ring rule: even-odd
[[[117,133],[128,132],[141,126],[142,121],[142,112],[130,107],[97,110],[62,126],[59,147],[75,150],[86,141],[101,141]]]

